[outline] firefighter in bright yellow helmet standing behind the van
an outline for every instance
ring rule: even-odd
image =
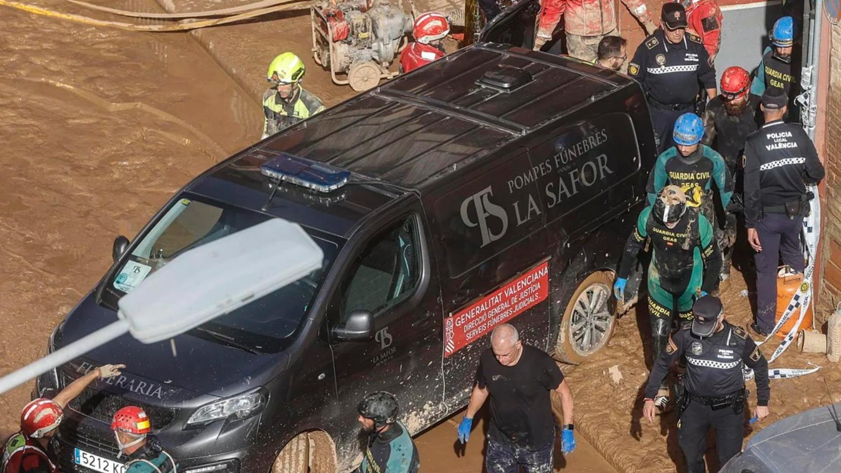
[[[325,109],[319,97],[301,87],[302,77],[304,62],[293,53],[278,55],[268,65],[269,88],[263,94],[264,139]]]

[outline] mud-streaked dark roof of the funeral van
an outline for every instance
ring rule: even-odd
[[[529,79],[509,90],[480,81],[487,72],[512,71],[508,68],[526,71]],[[283,212],[277,203],[269,211],[316,228],[325,224],[320,222],[326,216],[331,227],[326,231],[344,234],[394,197],[422,191],[542,124],[632,83],[627,76],[566,56],[473,45],[296,124],[226,161],[205,179],[240,186],[251,181],[248,187],[261,192],[262,205],[271,188],[259,166],[284,151],[352,171],[356,181],[388,183],[390,187],[343,187],[330,194],[345,192],[332,207],[310,200],[309,207],[318,208],[315,215]],[[274,202],[290,196],[278,192]],[[255,208],[259,200],[242,205]]]

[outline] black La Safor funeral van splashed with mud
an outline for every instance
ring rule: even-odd
[[[113,322],[119,298],[179,251],[268,218],[299,223],[323,267],[172,343],[124,335],[40,376],[50,396],[128,365],[71,402],[62,470],[121,473],[108,422],[135,404],[181,473],[347,471],[365,392],[393,392],[421,432],[466,404],[500,323],[586,360],[611,336],[613,271],[655,152],[636,82],[495,43],[241,151],[115,240],[114,265],[50,349]]]

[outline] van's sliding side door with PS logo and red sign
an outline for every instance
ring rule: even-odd
[[[506,158],[505,155],[510,157]],[[546,349],[547,236],[537,172],[525,148],[500,151],[433,199],[442,278],[445,398],[467,400],[490,333],[511,323],[526,344]]]

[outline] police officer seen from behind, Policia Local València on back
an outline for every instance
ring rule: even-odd
[[[780,255],[795,271],[804,269],[800,234],[814,197],[807,194],[806,184],[817,184],[826,174],[806,131],[783,121],[787,103],[781,89],[765,90],[759,105],[765,124],[748,136],[742,157],[744,226],[757,252],[756,321],[751,328],[760,335],[774,328]]]

